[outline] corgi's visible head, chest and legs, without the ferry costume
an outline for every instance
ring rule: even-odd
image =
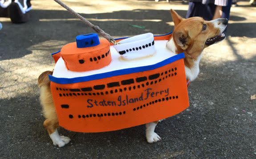
[[[203,49],[225,39],[223,31],[227,27],[228,20],[222,18],[205,21],[200,17],[183,19],[174,10],[171,10],[171,16],[175,29],[166,47],[170,52],[176,54],[184,52],[186,77],[187,80],[193,81],[199,74],[199,61],[201,60]],[[48,131],[53,144],[63,147],[69,143],[70,139],[69,137],[59,135],[57,131],[59,124],[48,77],[48,75],[52,74],[52,71],[46,71],[38,77],[40,100],[45,116],[43,125]],[[159,121],[146,124],[147,142],[154,143],[161,139],[154,132]]]

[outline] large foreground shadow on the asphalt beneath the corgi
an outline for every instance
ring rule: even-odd
[[[72,141],[65,147],[54,147],[42,126],[44,117],[38,93],[2,99],[0,155],[3,158],[253,158],[256,109],[249,96],[256,90],[252,71],[255,61],[256,56],[223,64],[203,60],[200,65],[203,74],[188,89],[190,107],[158,124],[156,132],[162,140],[154,144],[146,142],[142,125],[106,133],[76,133],[61,128],[61,134]]]

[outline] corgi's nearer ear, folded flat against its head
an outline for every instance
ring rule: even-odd
[[[172,34],[174,41],[180,48],[186,50],[190,42],[190,37],[186,31],[178,31]]]

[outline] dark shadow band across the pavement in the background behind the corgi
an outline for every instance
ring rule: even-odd
[[[176,11],[181,16],[186,16],[186,11]],[[32,10],[31,15],[30,21],[25,24],[3,22],[4,28],[0,32],[0,60],[15,59],[28,55],[31,53],[28,50],[30,46],[44,41],[66,40],[69,43],[75,41],[77,35],[94,32],[85,24],[82,24],[81,21],[75,20],[74,16],[67,11]],[[146,32],[166,34],[173,30],[173,26],[169,23],[172,21],[169,10],[137,9],[81,14],[81,16],[89,18],[93,24],[98,25],[114,37],[134,36]],[[231,19],[236,21],[245,20],[244,17],[240,16],[231,16]],[[144,26],[145,29],[134,28],[131,25]],[[255,34],[253,34],[255,26],[255,23],[229,24],[228,35],[255,37]],[[244,30],[247,32],[244,32]],[[126,32],[125,35],[124,32]],[[58,50],[52,50],[49,54]]]

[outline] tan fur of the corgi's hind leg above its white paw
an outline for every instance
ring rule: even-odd
[[[43,107],[43,114],[46,119],[44,122],[44,127],[50,135],[54,131],[56,131],[56,129],[59,127],[59,123],[53,103],[50,80],[48,75],[53,75],[53,72],[46,71],[38,77],[38,86],[40,87],[40,101]]]

